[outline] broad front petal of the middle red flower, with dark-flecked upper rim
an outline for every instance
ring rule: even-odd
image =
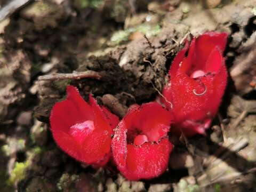
[[[167,169],[172,148],[168,139],[162,139],[158,144],[127,145],[125,169],[118,169],[129,180],[158,177]]]

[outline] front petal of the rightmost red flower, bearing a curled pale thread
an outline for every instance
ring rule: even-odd
[[[198,123],[202,122],[201,127],[204,127],[204,129],[207,128],[204,126],[204,121],[205,119],[213,118],[217,113],[226,84],[227,71],[226,67],[223,65],[223,61],[218,74],[202,77],[201,82],[188,77],[186,74],[179,74],[172,78],[170,86],[165,87],[163,90],[164,97],[173,105],[174,128],[171,131],[178,131],[178,133],[180,133],[179,130],[174,129],[180,129],[180,127],[189,129],[182,124],[189,120],[197,124],[194,134],[202,133],[198,131]],[[206,92],[204,94],[195,94],[203,93],[205,87]],[[170,104],[164,99],[162,99],[162,102],[165,103],[167,108],[171,109]],[[182,124],[182,126],[179,124]],[[186,134],[185,131],[185,135],[188,136],[192,134]]]

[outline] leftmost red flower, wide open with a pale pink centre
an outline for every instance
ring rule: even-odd
[[[90,105],[74,86],[67,86],[67,99],[51,111],[51,131],[59,147],[78,161],[103,166],[110,157],[111,134],[118,117],[101,109],[90,95]]]

